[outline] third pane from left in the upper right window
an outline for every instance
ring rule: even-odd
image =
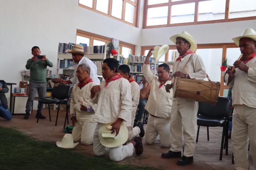
[[[200,1],[198,4],[198,21],[225,19],[225,0]]]

